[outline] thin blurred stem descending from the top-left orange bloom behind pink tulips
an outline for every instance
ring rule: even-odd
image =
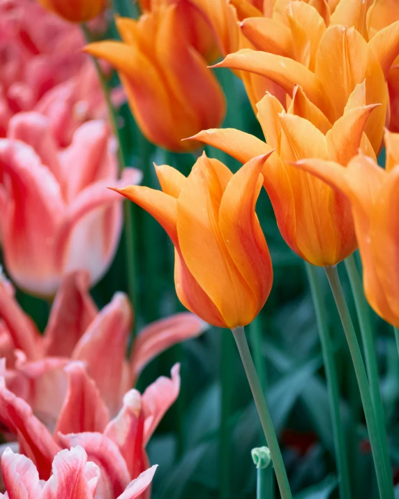
[[[87,43],[91,43],[93,41],[93,36],[91,34],[90,29],[86,26],[86,24],[81,24],[82,31],[84,33],[84,37],[86,38]],[[119,133],[118,124],[116,121],[117,114],[115,112],[114,106],[112,105],[111,100],[111,92],[110,87],[107,82],[107,78],[98,60],[95,57],[92,57],[93,64],[96,67],[98,80],[100,81],[101,89],[103,90],[105,103],[107,104],[108,115],[110,117],[110,124],[112,128],[112,133],[116,138],[116,158],[118,161],[118,172],[119,177],[123,172],[123,169],[126,167],[125,159],[123,157],[123,149],[121,142],[121,135]],[[123,213],[124,213],[124,226],[125,226],[125,241],[126,241],[126,267],[127,267],[127,277],[128,277],[128,295],[131,303],[133,304],[133,308],[135,308],[136,304],[136,274],[135,274],[135,262],[136,259],[136,244],[135,244],[135,233],[133,230],[133,215],[132,208],[130,206],[130,201],[123,201]],[[133,336],[135,335],[135,327],[133,327]]]

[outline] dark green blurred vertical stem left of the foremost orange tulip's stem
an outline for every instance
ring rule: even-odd
[[[220,337],[220,440],[219,440],[219,462],[220,462],[220,498],[231,497],[231,450],[232,435],[230,417],[232,411],[232,337],[228,331],[222,331]]]

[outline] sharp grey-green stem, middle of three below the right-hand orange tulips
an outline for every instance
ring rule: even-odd
[[[349,309],[345,301],[345,295],[342,290],[340,278],[338,276],[338,270],[337,267],[334,266],[325,267],[325,271],[329,279],[334,299],[336,301],[336,306],[338,308],[338,313],[341,318],[342,327],[347,338],[349,351],[351,353],[352,362],[354,364],[354,370],[359,385],[361,401],[363,403],[364,415],[366,417],[372,456],[375,464],[379,496],[382,499],[393,499],[393,484],[389,479],[389,471],[386,469],[388,457],[384,456],[384,446],[380,438],[377,417],[375,415],[375,409],[372,403],[366,368],[364,366],[363,357],[361,355],[361,350],[357,341],[356,332],[354,331],[352,319],[349,314]]]

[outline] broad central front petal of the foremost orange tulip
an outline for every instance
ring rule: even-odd
[[[220,162],[202,156],[177,200],[177,232],[184,262],[228,327],[248,324],[255,296],[232,260],[219,228],[225,186]],[[222,180],[222,181],[221,181]]]

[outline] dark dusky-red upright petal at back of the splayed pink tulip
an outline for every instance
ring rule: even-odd
[[[98,313],[89,293],[86,271],[67,274],[61,281],[45,329],[47,355],[70,357],[73,348]]]

